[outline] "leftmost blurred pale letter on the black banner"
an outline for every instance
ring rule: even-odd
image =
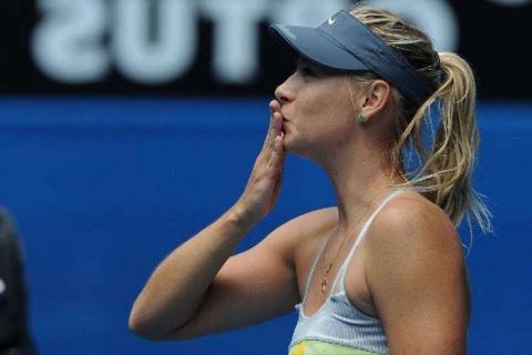
[[[41,71],[59,82],[100,81],[110,69],[103,45],[103,0],[39,0],[42,21],[32,37],[32,52]]]

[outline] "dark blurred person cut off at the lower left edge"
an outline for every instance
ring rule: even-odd
[[[10,214],[0,209],[0,355],[33,355],[23,252]]]

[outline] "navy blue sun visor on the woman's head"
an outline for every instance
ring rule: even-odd
[[[336,13],[318,28],[273,24],[269,33],[283,45],[325,68],[371,71],[418,106],[434,92],[403,55],[347,11]]]

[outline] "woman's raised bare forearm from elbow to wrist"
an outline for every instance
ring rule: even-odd
[[[186,324],[250,227],[232,209],[174,250],[157,266],[136,298],[130,327],[141,336],[164,338]]]

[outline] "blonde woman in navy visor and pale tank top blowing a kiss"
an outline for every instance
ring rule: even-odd
[[[471,69],[381,10],[270,31],[299,60],[275,91],[247,186],[158,265],[130,327],[184,339],[296,306],[290,355],[464,354],[469,295],[456,225],[464,214],[489,223],[470,183],[478,145]],[[430,114],[440,115],[432,135],[423,129]],[[324,169],[337,205],[288,221],[232,256],[274,207],[287,153]]]

